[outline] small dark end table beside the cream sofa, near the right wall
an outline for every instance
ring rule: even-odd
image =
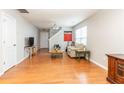
[[[86,57],[88,58],[88,60],[90,60],[90,51],[89,50],[76,50],[76,57],[78,57],[79,59],[82,57],[82,54],[84,54],[84,57],[86,59]]]

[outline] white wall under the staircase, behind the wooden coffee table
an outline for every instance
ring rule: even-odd
[[[72,31],[72,28],[62,28],[61,31],[51,37],[49,39],[49,50],[53,49],[54,44],[59,44],[62,50],[66,49],[67,42],[64,41],[64,31]]]

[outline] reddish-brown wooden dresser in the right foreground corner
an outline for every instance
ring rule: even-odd
[[[107,54],[108,77],[111,83],[124,84],[124,54]]]

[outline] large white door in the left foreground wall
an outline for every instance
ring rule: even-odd
[[[16,20],[9,15],[2,15],[2,50],[3,70],[16,64]]]

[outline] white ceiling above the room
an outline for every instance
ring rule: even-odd
[[[95,9],[26,9],[29,13],[20,13],[39,29],[50,28],[54,24],[61,27],[73,27],[87,19],[98,10]]]

